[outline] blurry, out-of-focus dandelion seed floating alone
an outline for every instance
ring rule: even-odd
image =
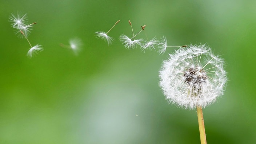
[[[72,51],[75,53],[75,55],[78,54],[78,52],[81,50],[81,46],[83,45],[81,39],[79,38],[73,38],[69,40],[69,45],[60,44],[61,47],[72,49]]]

